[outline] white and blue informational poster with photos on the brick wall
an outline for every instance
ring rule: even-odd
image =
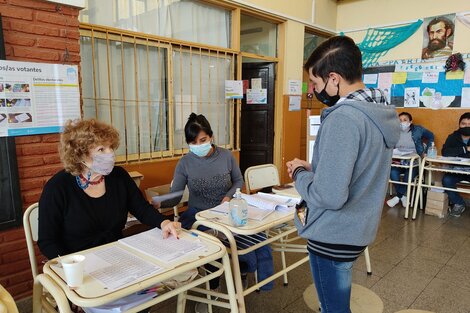
[[[76,65],[0,60],[0,137],[57,133],[77,118]]]

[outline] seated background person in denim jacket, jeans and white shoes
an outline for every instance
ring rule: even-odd
[[[395,146],[400,151],[409,151],[416,153],[420,157],[424,157],[428,151],[428,146],[434,142],[434,134],[426,128],[413,124],[413,117],[408,112],[401,112],[398,117],[400,118],[400,139]],[[423,143],[423,139],[427,141],[427,145]],[[408,165],[408,161],[402,160],[402,165]],[[400,176],[403,174],[403,181],[408,181],[409,170],[407,168],[394,167],[390,170],[390,179],[393,181],[400,181]],[[411,179],[413,180],[418,175],[418,168],[413,168]],[[406,207],[408,199],[406,198],[406,185],[393,184],[395,187],[396,196],[387,201],[387,205],[393,208],[401,200],[403,207]]]

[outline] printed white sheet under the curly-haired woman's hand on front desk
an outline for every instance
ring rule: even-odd
[[[188,253],[206,247],[199,240],[176,239],[173,236],[163,239],[162,231],[158,228],[120,239],[119,242],[164,263],[175,262]]]

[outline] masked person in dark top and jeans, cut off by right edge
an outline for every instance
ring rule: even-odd
[[[442,155],[448,157],[470,158],[470,112],[460,116],[459,129],[450,134],[444,147]],[[470,180],[470,175],[446,173],[442,178],[442,186],[455,189],[457,184],[463,180]],[[446,190],[449,196],[449,215],[459,217],[465,211],[465,201],[458,192]]]

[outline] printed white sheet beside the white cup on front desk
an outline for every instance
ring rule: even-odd
[[[117,246],[85,255],[85,272],[111,290],[132,285],[136,280],[161,270],[161,267]]]

